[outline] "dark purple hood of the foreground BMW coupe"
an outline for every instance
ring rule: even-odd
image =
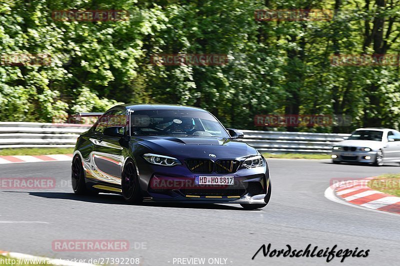
[[[135,136],[131,139],[140,141],[155,154],[159,153],[180,159],[233,159],[257,153],[253,147],[242,141],[221,137]],[[214,154],[216,157],[212,158],[209,154]]]

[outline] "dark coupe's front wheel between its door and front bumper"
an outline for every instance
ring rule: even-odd
[[[128,159],[123,167],[121,178],[122,196],[128,203],[141,203],[143,198],[140,193],[139,179],[136,167],[132,160]]]

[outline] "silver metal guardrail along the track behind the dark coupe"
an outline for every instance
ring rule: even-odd
[[[0,122],[0,149],[19,147],[74,147],[90,125]],[[335,142],[349,134],[243,130],[242,141],[260,152],[329,153]]]

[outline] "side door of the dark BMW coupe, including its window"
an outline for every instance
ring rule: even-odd
[[[120,185],[124,161],[121,137],[105,135],[104,130],[108,127],[121,127],[121,133],[123,134],[126,112],[123,109],[111,110],[104,117],[104,120],[107,122],[106,125],[101,124],[101,128],[97,130],[100,134],[99,138],[92,141],[95,145],[92,160],[96,168],[98,181]]]

